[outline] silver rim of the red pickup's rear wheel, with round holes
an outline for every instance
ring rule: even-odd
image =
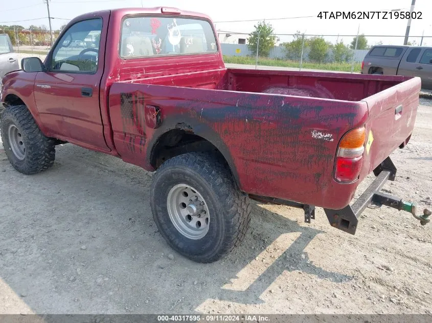
[[[167,197],[168,214],[174,227],[185,237],[198,240],[209,232],[210,212],[206,201],[196,189],[178,184]]]

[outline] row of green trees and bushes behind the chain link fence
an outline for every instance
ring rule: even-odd
[[[274,29],[270,23],[260,21],[254,26],[255,30],[247,38],[247,46],[252,53],[258,56],[268,57],[271,48],[277,41]],[[259,37],[258,37],[259,36]],[[258,41],[259,38],[259,41]],[[356,47],[357,42],[357,47]],[[352,58],[352,49],[369,49],[368,40],[364,34],[353,37],[351,43],[346,45],[343,39],[336,41],[335,44],[326,41],[322,36],[306,37],[300,31],[294,34],[293,40],[284,42],[280,46],[285,47],[286,58],[290,60],[300,60],[303,52],[308,53],[309,60],[316,63],[325,62],[329,58],[329,53],[333,53],[333,61],[346,62]]]

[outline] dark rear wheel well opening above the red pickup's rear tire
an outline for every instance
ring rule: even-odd
[[[154,169],[157,169],[170,158],[193,152],[211,153],[233,173],[228,161],[213,143],[191,131],[183,129],[172,129],[158,138],[152,148],[150,163]],[[237,182],[237,178],[234,175],[233,178]]]

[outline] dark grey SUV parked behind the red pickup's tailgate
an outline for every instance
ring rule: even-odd
[[[373,46],[361,64],[363,74],[417,76],[432,90],[432,47]]]

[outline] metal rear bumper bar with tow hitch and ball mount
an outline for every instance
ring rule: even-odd
[[[422,226],[430,221],[431,212],[428,209],[423,210],[422,215],[417,215],[417,208],[415,203],[405,202],[401,198],[385,194],[379,190],[387,180],[394,181],[396,175],[396,167],[387,157],[375,170],[376,179],[360,195],[358,200],[352,205],[348,205],[341,210],[324,209],[330,225],[334,228],[343,230],[345,232],[355,234],[357,229],[358,217],[368,206],[375,205],[381,207],[382,205],[389,206],[399,211],[410,212],[417,220],[420,221]]]

